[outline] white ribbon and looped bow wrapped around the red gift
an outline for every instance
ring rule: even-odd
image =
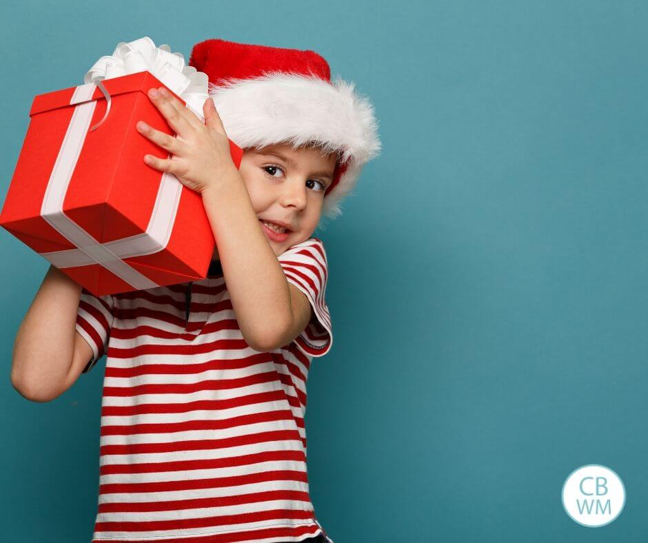
[[[70,104],[79,105],[72,114],[41,205],[41,216],[45,221],[77,247],[41,253],[42,256],[58,268],[99,264],[137,290],[160,285],[123,262],[123,259],[153,254],[165,249],[179,207],[182,183],[173,174],[164,172],[146,232],[103,244],[65,215],[63,201],[85,137],[88,132],[101,126],[110,112],[110,96],[105,88],[102,88],[101,80],[145,70],[150,71],[185,100],[192,112],[196,113],[196,107],[200,112],[199,118],[203,119],[201,113],[203,103],[207,99],[207,74],[185,66],[183,56],[180,53],[170,53],[168,45],[156,48],[149,38],[119,43],[112,57],[101,57],[85,74],[86,84],[74,91]],[[92,95],[97,86],[106,96],[107,107],[104,118],[91,129],[90,121],[97,105],[96,101],[92,101]]]

